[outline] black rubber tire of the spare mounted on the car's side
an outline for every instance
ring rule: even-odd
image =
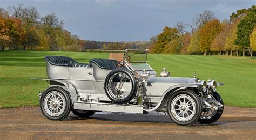
[[[111,79],[111,77],[116,74],[116,73],[124,73],[126,76],[129,77],[129,79],[127,79],[127,82],[131,82],[131,85],[132,85],[132,88],[131,88],[131,92],[129,93],[129,95],[127,95],[124,99],[117,99],[116,97],[114,97],[110,91],[111,88],[108,87],[108,83]],[[106,76],[106,79],[105,79],[105,93],[107,95],[107,97],[115,102],[116,104],[126,104],[128,102],[130,102],[136,95],[137,93],[137,89],[138,89],[138,84],[137,84],[137,81],[134,77],[134,75],[127,69],[124,69],[124,68],[117,68],[117,69],[114,69],[112,70],[107,76]]]

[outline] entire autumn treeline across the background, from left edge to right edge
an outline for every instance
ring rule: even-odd
[[[0,8],[0,46],[2,50],[85,51],[87,48],[150,49],[157,54],[242,55],[256,50],[256,6],[233,12],[220,21],[205,10],[191,23],[177,23],[173,28],[152,36],[150,41],[104,42],[81,40],[63,28],[64,21],[55,13],[44,17],[34,6],[18,4]],[[240,53],[241,52],[241,53]]]

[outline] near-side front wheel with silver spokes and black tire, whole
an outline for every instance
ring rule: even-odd
[[[174,93],[167,102],[170,119],[182,126],[192,126],[201,115],[201,102],[196,93],[181,90]]]

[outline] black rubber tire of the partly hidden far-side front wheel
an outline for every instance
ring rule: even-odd
[[[219,93],[217,93],[217,92],[214,92],[213,97],[218,102],[220,102],[220,104],[222,104],[223,107],[218,108],[216,114],[213,117],[211,117],[210,119],[204,119],[203,117],[200,116],[198,119],[198,122],[203,123],[203,124],[211,124],[220,119],[221,115],[223,114],[223,110],[224,110],[224,102],[223,102],[223,99],[220,97]]]

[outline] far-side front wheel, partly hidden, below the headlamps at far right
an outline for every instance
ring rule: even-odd
[[[214,107],[217,107],[218,105],[215,102],[208,102],[212,106],[212,108],[203,109],[198,122],[203,124],[211,124],[220,119],[220,116],[222,115],[224,110],[223,100],[217,92],[214,92],[213,95],[211,95],[211,99],[220,102],[223,107],[215,109]]]

